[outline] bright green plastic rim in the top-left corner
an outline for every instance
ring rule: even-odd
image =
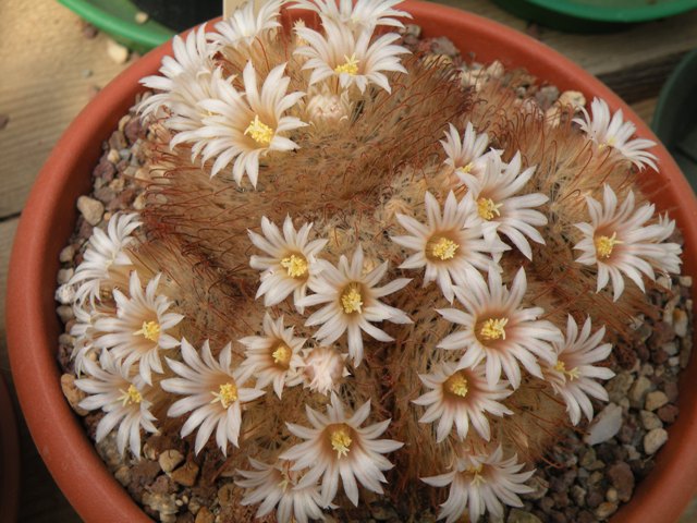
[[[142,54],[164,44],[174,31],[154,20],[135,21],[140,10],[129,0],[58,0],[68,9],[103,31],[119,44]]]

